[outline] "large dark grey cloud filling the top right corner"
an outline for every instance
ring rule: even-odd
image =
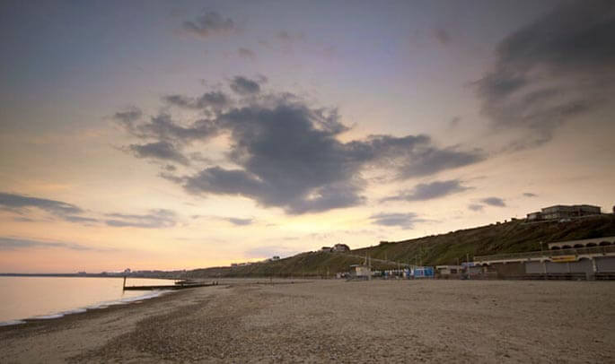
[[[506,37],[493,70],[477,82],[496,129],[528,133],[511,147],[547,143],[572,120],[591,123],[615,95],[615,2],[563,2]]]

